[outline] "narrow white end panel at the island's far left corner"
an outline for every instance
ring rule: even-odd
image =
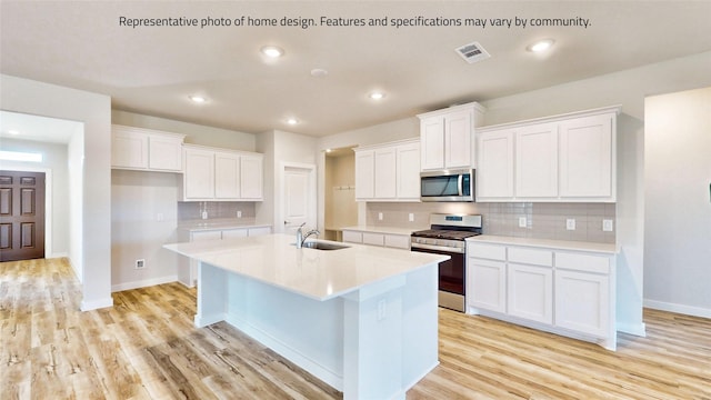
[[[198,263],[198,313],[194,326],[203,328],[226,319],[227,271]]]

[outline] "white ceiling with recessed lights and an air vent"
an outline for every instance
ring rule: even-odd
[[[114,109],[326,136],[711,50],[711,1],[7,1],[0,71],[106,93]],[[129,18],[561,18],[582,27],[159,27]],[[525,51],[552,38],[545,56]],[[468,64],[454,48],[480,42]],[[286,50],[268,62],[266,44]],[[311,77],[314,68],[328,70]],[[367,98],[374,89],[387,97]],[[209,101],[196,106],[189,94]],[[581,94],[582,96],[582,94]],[[298,126],[288,126],[287,118]]]

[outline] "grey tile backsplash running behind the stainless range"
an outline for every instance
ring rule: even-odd
[[[371,202],[367,207],[369,226],[425,229],[432,212],[482,214],[483,232],[535,239],[575,240],[614,243],[613,231],[602,230],[603,220],[615,219],[614,203],[389,203]],[[379,217],[382,214],[382,220]],[[412,214],[414,221],[410,222]],[[525,218],[525,227],[519,227]],[[575,229],[567,229],[567,220],[575,221]]]

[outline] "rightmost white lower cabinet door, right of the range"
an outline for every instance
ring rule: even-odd
[[[608,276],[555,271],[555,326],[599,338],[609,336]]]

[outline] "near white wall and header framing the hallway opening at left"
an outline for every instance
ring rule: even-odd
[[[111,299],[111,99],[108,96],[0,76],[0,109],[83,122],[81,166],[82,310],[110,307]],[[70,153],[69,157],[78,157]],[[71,160],[70,162],[74,162]],[[76,230],[74,230],[76,231]],[[73,241],[76,238],[72,238]],[[73,247],[74,244],[70,244]]]

